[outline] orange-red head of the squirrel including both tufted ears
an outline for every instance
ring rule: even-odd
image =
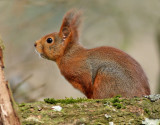
[[[75,13],[75,10],[70,10],[64,16],[58,33],[48,34],[36,41],[34,46],[41,57],[56,61],[63,56],[70,44],[78,41],[80,15],[80,13]]]

